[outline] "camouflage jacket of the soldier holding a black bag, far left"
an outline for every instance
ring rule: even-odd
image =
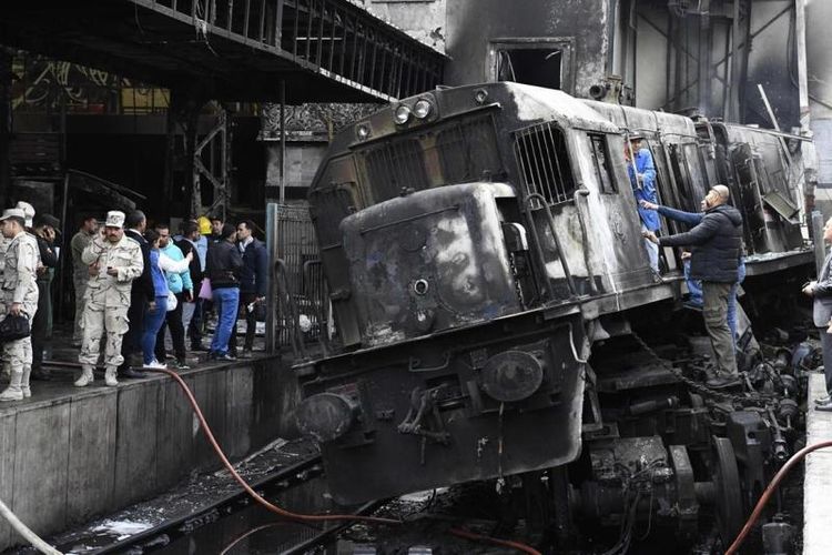
[[[6,306],[21,303],[23,312],[33,316],[38,307],[38,242],[29,233],[18,233],[9,242],[3,260]]]

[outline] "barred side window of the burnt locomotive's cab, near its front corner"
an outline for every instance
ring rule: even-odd
[[[551,122],[518,131],[515,157],[528,194],[540,194],[549,204],[572,200],[575,180],[564,131]]]

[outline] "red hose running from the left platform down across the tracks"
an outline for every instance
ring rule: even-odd
[[[191,407],[193,408],[194,414],[196,414],[196,417],[200,421],[200,425],[202,426],[202,432],[205,434],[205,437],[207,437],[209,442],[211,443],[211,446],[214,447],[214,451],[216,452],[216,456],[220,457],[223,465],[227,471],[231,473],[231,475],[234,477],[234,480],[245,490],[245,492],[252,496],[252,498],[265,507],[267,511],[271,511],[272,513],[275,513],[280,516],[283,516],[284,518],[291,518],[294,521],[302,521],[302,522],[322,522],[322,521],[359,521],[359,522],[367,522],[367,523],[374,523],[374,524],[404,524],[403,521],[397,521],[394,518],[381,518],[376,516],[361,516],[361,515],[305,515],[300,513],[293,513],[291,511],[286,511],[285,508],[281,508],[277,505],[272,504],[267,500],[263,498],[257,492],[252,490],[252,487],[243,480],[243,477],[236,472],[234,468],[234,465],[231,464],[229,458],[225,456],[225,453],[223,452],[222,447],[220,447],[220,444],[216,442],[216,438],[214,437],[213,432],[207,425],[207,422],[205,421],[205,416],[202,414],[202,410],[200,408],[199,403],[196,403],[196,398],[193,396],[193,393],[191,392],[191,389],[187,386],[187,384],[180,377],[179,374],[173,372],[172,370],[166,369],[146,369],[150,372],[160,372],[163,374],[168,374],[171,376],[180,387],[182,387],[182,391],[185,393],[185,396],[187,397],[187,402],[191,404]],[[253,534],[260,529],[270,527],[271,525],[265,525],[257,527],[250,533]],[[513,542],[509,539],[499,539],[496,537],[490,536],[484,536],[480,534],[475,534],[473,532],[468,532],[461,528],[451,528],[448,531],[450,534],[454,534],[455,536],[463,537],[466,539],[474,539],[479,542],[489,542],[495,545],[501,545],[505,547],[511,547],[514,549],[517,549],[521,553],[527,553],[528,555],[540,555],[540,552],[537,549],[529,547],[528,545],[525,545],[520,542]],[[247,534],[246,534],[247,535]],[[242,538],[241,538],[242,539]],[[233,547],[234,544],[230,545],[227,549]],[[54,552],[57,553],[57,552]],[[58,554],[60,555],[60,554]]]

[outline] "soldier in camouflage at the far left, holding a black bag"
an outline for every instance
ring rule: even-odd
[[[24,315],[32,324],[38,310],[38,243],[24,230],[26,214],[10,209],[0,218],[3,236],[10,240],[3,264],[3,313]],[[32,372],[32,340],[9,341],[3,344],[3,362],[11,371],[9,386],[0,393],[0,401],[21,401],[31,396],[29,375]]]

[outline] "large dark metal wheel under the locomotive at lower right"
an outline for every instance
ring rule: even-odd
[[[737,455],[730,440],[713,437],[713,481],[717,486],[717,525],[722,536],[722,543],[728,545],[740,532],[745,514],[742,507],[740,473],[737,468]]]

